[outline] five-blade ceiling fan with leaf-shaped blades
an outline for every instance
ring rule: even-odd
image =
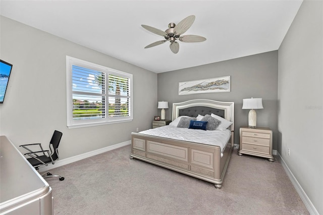
[[[150,48],[156,45],[160,45],[165,43],[166,41],[170,41],[170,48],[173,51],[173,53],[177,53],[180,49],[180,45],[176,40],[180,40],[182,42],[203,42],[206,40],[205,37],[197,36],[197,35],[183,35],[193,24],[195,20],[195,16],[191,15],[180,21],[177,25],[175,23],[168,24],[168,29],[165,31],[159,30],[157,28],[148,26],[148,25],[141,25],[144,29],[158,34],[160,36],[163,36],[165,40],[160,40],[153,42],[149,45],[147,45],[145,48]]]

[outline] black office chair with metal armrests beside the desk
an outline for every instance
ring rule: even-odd
[[[25,153],[24,155],[28,155],[29,158],[27,158],[28,162],[37,170],[39,171],[40,166],[48,166],[48,164],[55,164],[57,160],[59,160],[59,151],[58,147],[61,141],[63,133],[60,131],[54,131],[51,140],[49,142],[49,149],[50,149],[50,154],[49,150],[43,150],[41,147],[41,143],[32,143],[32,144],[25,144],[25,145],[20,145],[19,147],[23,147],[30,151],[29,153]],[[38,145],[40,147],[40,151],[32,151],[28,147],[32,145]],[[28,147],[27,147],[28,146]],[[59,177],[60,181],[64,180],[64,177],[61,177],[59,175],[52,175],[50,173],[45,173],[42,175],[43,178],[48,178],[48,177]]]

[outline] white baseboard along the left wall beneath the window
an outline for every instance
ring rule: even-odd
[[[48,170],[51,170],[51,169],[54,169],[54,168],[57,168],[57,167],[61,167],[61,166],[67,165],[67,164],[71,164],[73,162],[77,162],[78,160],[81,160],[81,159],[84,159],[84,158],[87,158],[87,157],[91,157],[91,156],[94,156],[94,155],[97,155],[97,154],[100,154],[100,153],[103,153],[103,152],[106,152],[106,151],[111,151],[113,149],[120,148],[120,147],[130,145],[130,144],[131,144],[131,140],[128,140],[126,142],[122,142],[122,143],[118,143],[118,144],[115,144],[115,145],[107,146],[107,147],[100,148],[100,149],[97,149],[97,150],[94,150],[94,151],[89,151],[89,152],[86,152],[84,154],[79,154],[79,155],[76,155],[76,156],[73,156],[73,157],[68,157],[68,158],[65,158],[65,159],[61,159],[61,160],[58,160],[58,162],[56,162],[55,165],[48,165],[48,166],[39,167],[39,172],[41,173],[41,172],[45,172],[45,171],[48,171]]]

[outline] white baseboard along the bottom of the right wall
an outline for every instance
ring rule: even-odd
[[[277,152],[277,154],[280,156],[281,159],[281,164],[287,174],[287,176],[289,177],[289,179],[291,180],[292,184],[294,185],[298,195],[301,197],[302,201],[305,204],[305,207],[307,208],[308,212],[310,214],[317,214],[319,215],[319,213],[317,212],[316,208],[314,207],[314,205],[312,204],[312,202],[310,201],[310,199],[308,198],[308,196],[306,195],[306,193],[304,192],[303,188],[301,187],[301,185],[298,183],[297,179],[295,178],[295,176],[293,175],[293,173],[291,172],[291,170],[288,168],[287,164],[285,163],[283,157],[280,155],[279,152]]]

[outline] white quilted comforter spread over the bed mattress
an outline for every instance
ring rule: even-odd
[[[231,136],[231,131],[229,129],[225,131],[204,131],[200,129],[177,128],[176,126],[172,125],[149,129],[139,133],[196,143],[204,143],[208,145],[218,145],[221,147],[221,152],[225,148]],[[221,153],[221,156],[222,155],[223,154]]]

